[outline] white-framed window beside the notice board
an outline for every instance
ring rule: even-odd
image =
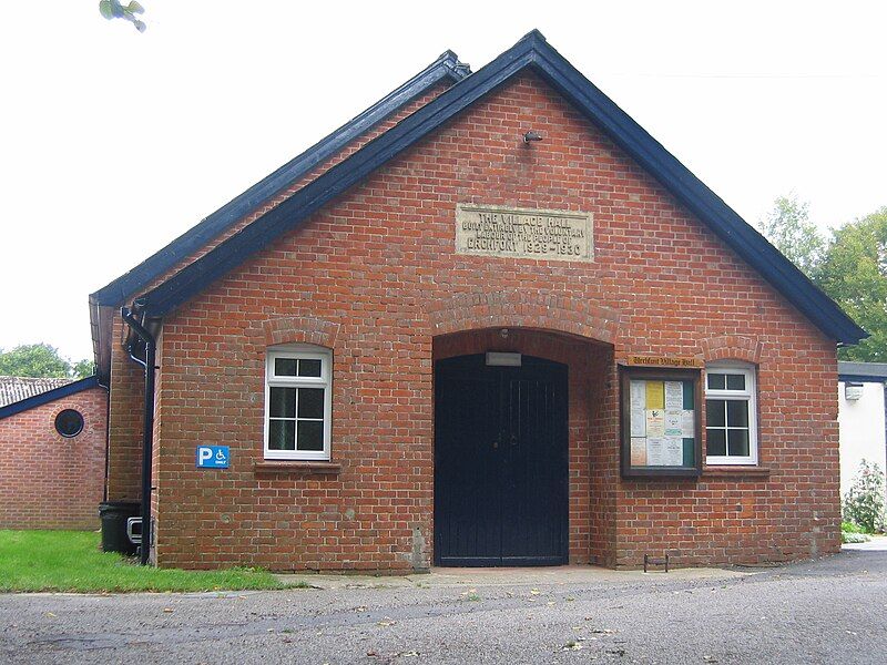
[[[751,365],[705,366],[705,461],[757,464],[757,389]]]

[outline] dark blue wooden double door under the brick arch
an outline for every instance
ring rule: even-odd
[[[435,563],[568,562],[567,367],[435,366]]]

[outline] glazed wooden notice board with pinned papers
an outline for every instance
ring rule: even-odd
[[[622,368],[622,475],[702,472],[700,371]]]

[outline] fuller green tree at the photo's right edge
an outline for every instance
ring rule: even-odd
[[[832,232],[817,284],[871,335],[838,357],[887,362],[887,207]]]

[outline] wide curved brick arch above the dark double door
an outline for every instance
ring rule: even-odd
[[[481,328],[540,328],[613,344],[620,330],[615,309],[584,298],[518,289],[456,294],[438,300],[427,317],[432,336]]]

